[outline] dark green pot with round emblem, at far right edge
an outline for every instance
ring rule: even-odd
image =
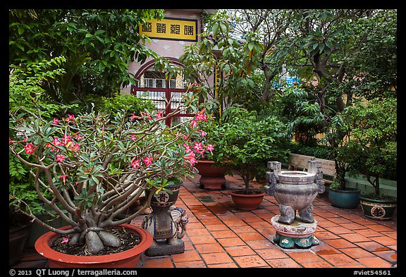
[[[359,197],[362,211],[367,218],[387,221],[393,218],[397,206],[396,199],[372,199],[371,197]]]

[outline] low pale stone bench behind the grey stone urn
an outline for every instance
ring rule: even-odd
[[[321,161],[321,171],[323,171],[324,185],[333,183],[336,177],[336,163],[335,161],[319,159],[315,156],[307,156],[302,154],[290,154],[288,157],[288,170],[307,171],[307,161]]]

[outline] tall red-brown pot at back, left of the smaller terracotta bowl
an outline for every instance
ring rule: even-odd
[[[197,161],[195,168],[199,171],[200,187],[206,190],[223,190],[226,188],[224,169],[214,166],[214,161]]]

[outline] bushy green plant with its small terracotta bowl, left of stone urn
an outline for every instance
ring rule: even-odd
[[[227,161],[231,171],[244,181],[245,187],[230,195],[238,209],[257,209],[265,195],[250,185],[255,176],[265,176],[269,160],[285,161],[288,141],[284,125],[273,116],[261,118],[254,111],[231,106],[223,113],[214,131],[214,148],[219,161]]]

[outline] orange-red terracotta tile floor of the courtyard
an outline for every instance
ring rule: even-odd
[[[258,209],[235,208],[228,193],[243,187],[227,176],[226,190],[203,190],[199,176],[187,178],[176,206],[187,211],[185,252],[161,257],[142,255],[140,268],[397,268],[397,218],[373,221],[357,209],[332,207],[326,193],[314,199],[319,245],[288,250],[273,244],[271,218],[279,213],[269,195]],[[259,186],[253,182],[252,185]],[[141,226],[144,216],[133,220]],[[47,260],[27,250],[15,267],[46,267]]]

